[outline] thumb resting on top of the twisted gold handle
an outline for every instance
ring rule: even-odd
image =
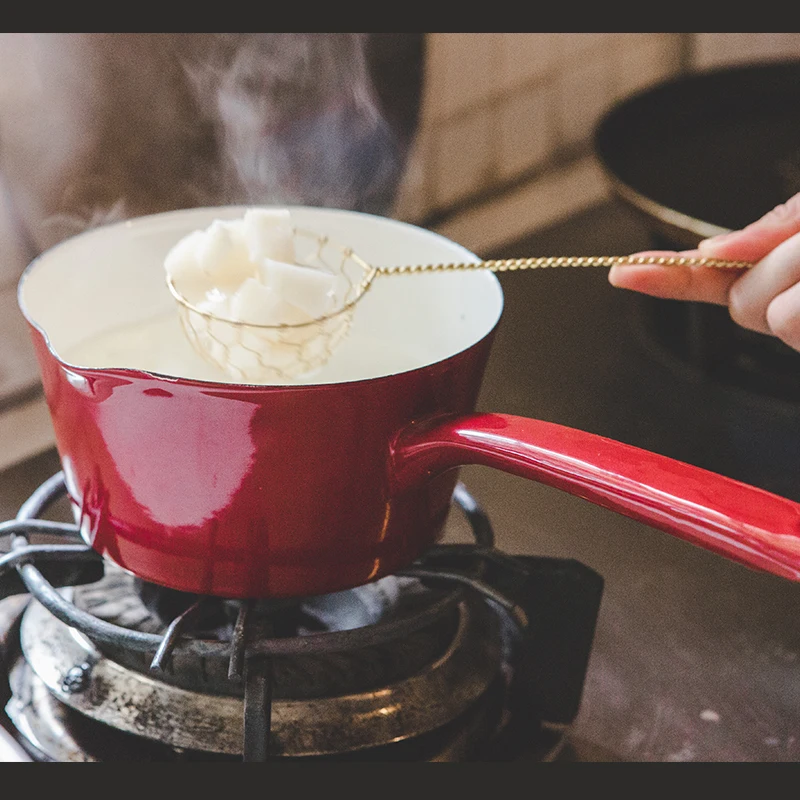
[[[756,262],[796,233],[800,233],[800,193],[742,230],[700,242],[698,249],[704,256]]]

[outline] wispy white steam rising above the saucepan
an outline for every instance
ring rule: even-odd
[[[220,41],[208,62],[186,65],[216,128],[228,192],[248,203],[386,210],[399,155],[378,110],[364,36],[237,37]]]

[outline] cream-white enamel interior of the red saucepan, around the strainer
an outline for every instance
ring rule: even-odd
[[[298,227],[327,234],[376,266],[480,260],[395,220],[336,209],[290,211]],[[187,233],[243,212],[172,211],[82,233],[32,262],[20,281],[20,307],[67,364],[234,383],[188,344],[166,286],[164,257]],[[502,307],[500,283],[488,270],[379,275],[328,364],[293,382],[364,380],[442,361],[489,334]]]

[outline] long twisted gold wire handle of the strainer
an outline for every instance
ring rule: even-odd
[[[410,264],[399,267],[375,267],[379,275],[402,275],[416,272],[450,272],[455,270],[488,269],[492,272],[514,272],[520,269],[545,267],[613,267],[617,264],[661,266],[720,267],[748,269],[749,261],[730,261],[723,258],[694,256],[541,256],[539,258],[504,258],[475,263]]]

